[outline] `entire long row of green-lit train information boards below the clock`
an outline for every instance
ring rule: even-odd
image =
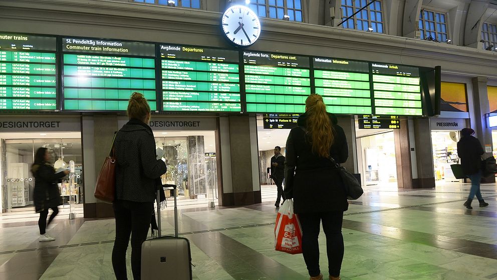
[[[389,63],[0,33],[0,110],[124,111],[137,91],[153,111],[292,114],[318,93],[337,114],[422,115],[421,82]]]

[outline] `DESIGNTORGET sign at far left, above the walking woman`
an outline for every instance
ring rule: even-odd
[[[2,117],[0,132],[81,131],[79,117]]]

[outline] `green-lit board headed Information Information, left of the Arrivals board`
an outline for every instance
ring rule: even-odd
[[[326,109],[337,114],[371,114],[369,64],[363,61],[313,57],[316,93]]]

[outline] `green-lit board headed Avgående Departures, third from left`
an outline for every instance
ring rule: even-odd
[[[161,45],[162,110],[239,112],[237,51]]]

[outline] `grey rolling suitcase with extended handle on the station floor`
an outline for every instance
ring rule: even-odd
[[[178,237],[178,208],[176,186],[164,185],[164,190],[174,192],[174,237],[161,237],[160,198],[157,192],[158,238],[143,242],[141,247],[141,278],[166,280],[191,280],[190,242]]]

